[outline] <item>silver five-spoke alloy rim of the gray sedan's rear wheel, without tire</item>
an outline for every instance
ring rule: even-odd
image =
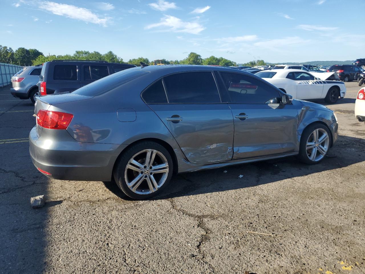
[[[160,151],[144,149],[131,157],[124,170],[128,188],[137,194],[157,191],[168,178],[169,164]]]

